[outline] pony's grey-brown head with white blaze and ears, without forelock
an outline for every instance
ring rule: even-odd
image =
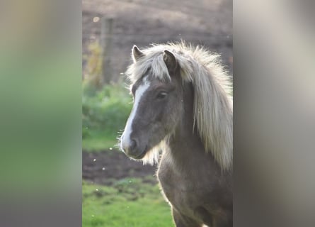
[[[134,64],[147,64],[147,70],[131,85],[134,104],[121,137],[121,149],[134,159],[142,159],[170,135],[183,110],[180,71],[171,51],[159,53],[161,70],[137,46],[132,48]],[[167,71],[166,71],[167,70]],[[156,77],[154,74],[164,74]],[[162,79],[161,79],[162,78]]]

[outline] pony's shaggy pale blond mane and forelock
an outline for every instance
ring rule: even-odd
[[[142,50],[145,56],[128,68],[126,74],[131,82],[140,79],[149,67],[155,77],[171,80],[163,60],[164,50],[173,52],[183,80],[193,83],[194,127],[197,127],[206,152],[214,155],[222,170],[229,170],[233,165],[233,101],[231,80],[219,55],[183,42],[152,45]],[[154,150],[154,154],[144,157],[144,162],[158,160],[159,148]]]

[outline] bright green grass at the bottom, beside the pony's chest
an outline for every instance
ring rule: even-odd
[[[82,226],[169,227],[171,211],[157,185],[122,179],[112,187],[82,186]]]

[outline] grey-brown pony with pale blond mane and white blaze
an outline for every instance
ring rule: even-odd
[[[177,227],[233,226],[231,79],[219,55],[180,43],[132,48],[134,104],[120,148],[157,177]]]

